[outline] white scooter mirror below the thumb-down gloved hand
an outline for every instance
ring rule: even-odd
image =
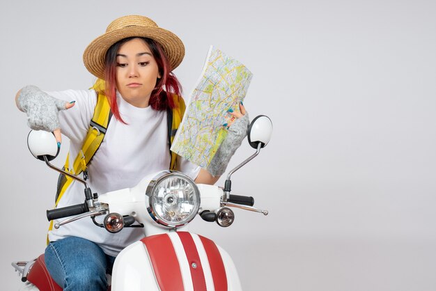
[[[31,130],[27,136],[27,146],[33,157],[45,161],[44,156],[49,161],[57,157],[60,148],[52,132],[43,130]]]

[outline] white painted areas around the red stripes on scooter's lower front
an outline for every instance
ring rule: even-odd
[[[178,265],[182,274],[183,290],[194,291],[190,270],[191,264],[187,260],[187,255],[183,249],[178,234],[173,232],[166,235],[169,235],[173,244],[173,249],[176,251]],[[213,291],[215,290],[215,285],[212,278],[210,263],[208,262],[208,255],[205,253],[205,249],[203,248],[198,235],[192,233],[191,235],[196,244],[196,250],[198,251],[201,265],[203,267],[206,289],[208,291]],[[227,290],[242,290],[238,272],[236,271],[230,255],[219,246],[217,246],[217,249],[221,255],[226,272]],[[149,251],[153,250],[146,249],[146,245],[143,244],[143,242],[135,242],[119,253],[112,272],[113,291],[161,290],[155,277],[153,263],[151,262],[148,253]]]

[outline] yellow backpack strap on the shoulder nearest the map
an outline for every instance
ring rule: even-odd
[[[185,101],[183,100],[182,97],[173,94],[171,95],[173,97],[173,102],[174,102],[174,108],[173,109],[169,109],[166,117],[167,117],[167,121],[168,121],[168,141],[169,141],[169,147],[171,148],[171,145],[173,144],[174,141],[174,136],[176,136],[176,132],[177,129],[180,125],[180,123],[182,122],[182,118],[183,115],[185,114],[185,110],[186,110],[186,105],[185,105]],[[177,168],[177,154],[176,152],[171,152],[170,150],[170,155],[171,155],[171,163],[169,166],[170,170],[176,170]]]

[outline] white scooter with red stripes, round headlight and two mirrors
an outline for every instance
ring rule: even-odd
[[[254,118],[248,141],[256,152],[228,173],[224,188],[196,184],[178,171],[161,171],[146,176],[135,187],[100,195],[93,194],[85,180],[50,163],[59,154],[53,134],[31,131],[27,142],[34,157],[84,184],[84,203],[47,210],[47,219],[54,220],[54,228],[86,217],[110,233],[127,227],[143,228],[143,239],[117,255],[112,274],[108,275],[109,289],[221,291],[242,290],[233,260],[211,239],[190,233],[188,224],[198,215],[219,226],[231,226],[235,219],[231,207],[268,214],[253,206],[254,198],[231,194],[231,175],[259,154],[271,134],[270,118]],[[98,223],[95,217],[101,215],[104,221]],[[20,290],[62,290],[50,277],[44,255],[12,265],[24,282]]]

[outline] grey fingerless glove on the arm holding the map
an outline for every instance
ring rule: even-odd
[[[226,171],[228,162],[230,162],[230,159],[233,154],[235,154],[235,151],[241,146],[244,137],[247,136],[249,123],[250,120],[248,113],[245,113],[244,116],[238,118],[228,129],[226,139],[222,141],[217,153],[212,158],[212,161],[210,161],[209,166],[206,168],[212,176],[217,177]]]

